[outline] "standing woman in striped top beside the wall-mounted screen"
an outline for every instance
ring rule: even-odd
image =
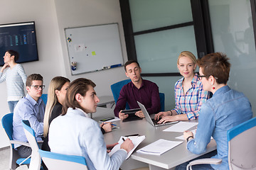
[[[26,73],[21,64],[16,63],[18,57],[18,52],[14,50],[6,51],[4,66],[0,71],[0,83],[6,81],[7,101],[11,113],[14,113],[14,108],[19,99],[25,96],[24,84],[26,84]],[[6,69],[5,73],[4,69]]]

